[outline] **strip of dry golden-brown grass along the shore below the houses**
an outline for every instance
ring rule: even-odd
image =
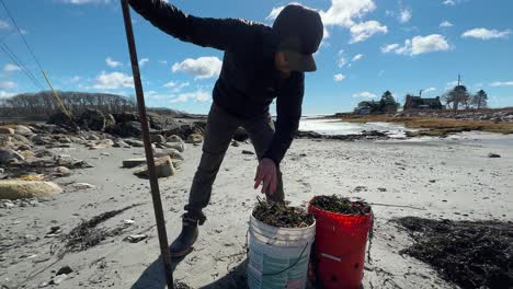
[[[480,130],[498,134],[513,134],[513,124],[508,123],[492,123],[492,122],[477,122],[464,120],[454,118],[441,117],[395,117],[387,115],[369,115],[358,117],[341,118],[346,123],[396,123],[402,124],[408,128],[421,128],[423,130],[408,132],[410,137],[432,136],[432,137],[446,137],[451,134],[460,131]]]

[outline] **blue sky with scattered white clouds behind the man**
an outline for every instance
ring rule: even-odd
[[[59,90],[134,94],[117,0],[3,0]],[[289,1],[171,0],[196,16],[271,24]],[[436,96],[458,72],[490,106],[513,106],[513,1],[304,0],[320,11],[327,37],[307,73],[305,114],[351,111],[390,90]],[[223,53],[181,43],[133,12],[147,104],[206,113]],[[45,84],[0,5],[0,39]],[[46,88],[46,85],[45,85]],[[0,50],[0,97],[38,88]]]

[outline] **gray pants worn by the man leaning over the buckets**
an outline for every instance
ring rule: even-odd
[[[228,114],[216,104],[212,105],[208,113],[205,140],[203,142],[202,159],[194,175],[189,195],[189,204],[185,206],[185,210],[203,219],[203,221],[205,217],[202,209],[210,200],[212,185],[216,180],[217,172],[225,158],[226,150],[230,146],[233,134],[240,126],[248,131],[259,160],[265,153],[273,139],[274,124],[269,114],[250,119],[240,119]],[[254,166],[254,172],[256,172],[256,165]],[[246,180],[246,182],[252,183],[253,180]],[[284,200],[285,194],[283,192],[280,169],[276,192],[273,195],[269,193],[265,195],[269,199],[275,201]]]

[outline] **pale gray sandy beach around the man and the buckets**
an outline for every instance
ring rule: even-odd
[[[457,288],[426,264],[400,255],[411,244],[389,220],[415,216],[451,220],[513,220],[513,136],[464,132],[446,139],[340,141],[297,139],[283,164],[286,199],[305,206],[316,195],[337,194],[373,205],[375,233],[372,263],[365,265],[364,288]],[[206,223],[195,250],[175,262],[174,278],[193,288],[241,288],[246,276],[248,221],[260,194],[252,188],[256,169],[251,143],[230,147],[214,186]],[[94,167],[73,170],[57,178],[65,192],[36,207],[0,209],[0,288],[41,288],[55,273],[72,273],[57,288],[166,288],[147,180],[122,160],[144,157],[141,148],[52,149],[86,160]],[[488,158],[488,153],[501,158]],[[181,215],[201,157],[187,144],[185,161],[174,176],[160,178],[170,242],[181,229]],[[93,188],[77,188],[89,183]],[[47,238],[52,227],[69,232],[105,211],[130,209],[99,224],[121,234],[100,244],[59,256],[64,241]],[[138,243],[129,234],[147,234]]]

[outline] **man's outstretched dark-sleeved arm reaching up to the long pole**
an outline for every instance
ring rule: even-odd
[[[187,15],[162,0],[129,0],[132,8],[156,27],[183,42],[220,50],[235,49],[261,25],[241,19]]]

